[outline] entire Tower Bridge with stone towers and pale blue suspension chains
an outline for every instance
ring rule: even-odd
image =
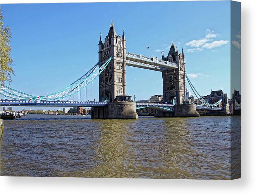
[[[86,74],[61,90],[45,96],[27,94],[11,87],[1,85],[1,95],[10,99],[1,99],[1,106],[84,106],[92,107],[92,118],[127,118],[136,119],[136,109],[145,107],[155,108],[158,117],[199,116],[196,110],[224,111],[220,99],[216,103],[207,102],[195,89],[186,75],[186,60],[184,51],[178,52],[174,43],[165,57],[148,57],[141,54],[126,52],[124,29],[122,36],[117,35],[114,24],[110,25],[104,39],[100,34],[98,43],[98,63]],[[162,72],[163,102],[135,103],[126,92],[126,66]],[[65,101],[64,98],[81,93],[94,79],[99,77],[99,101]],[[194,105],[186,99],[186,79],[193,92],[201,102]],[[236,107],[237,108],[237,107]]]

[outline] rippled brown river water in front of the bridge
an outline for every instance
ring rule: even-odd
[[[27,114],[4,121],[1,176],[230,179],[240,119]],[[240,175],[240,164],[232,167]]]

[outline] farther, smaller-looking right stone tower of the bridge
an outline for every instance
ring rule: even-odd
[[[175,51],[175,45],[172,43],[167,57],[162,56],[162,60],[176,63],[178,69],[169,69],[162,73],[163,77],[163,101],[172,104],[182,104],[186,100],[186,67],[185,55]]]

